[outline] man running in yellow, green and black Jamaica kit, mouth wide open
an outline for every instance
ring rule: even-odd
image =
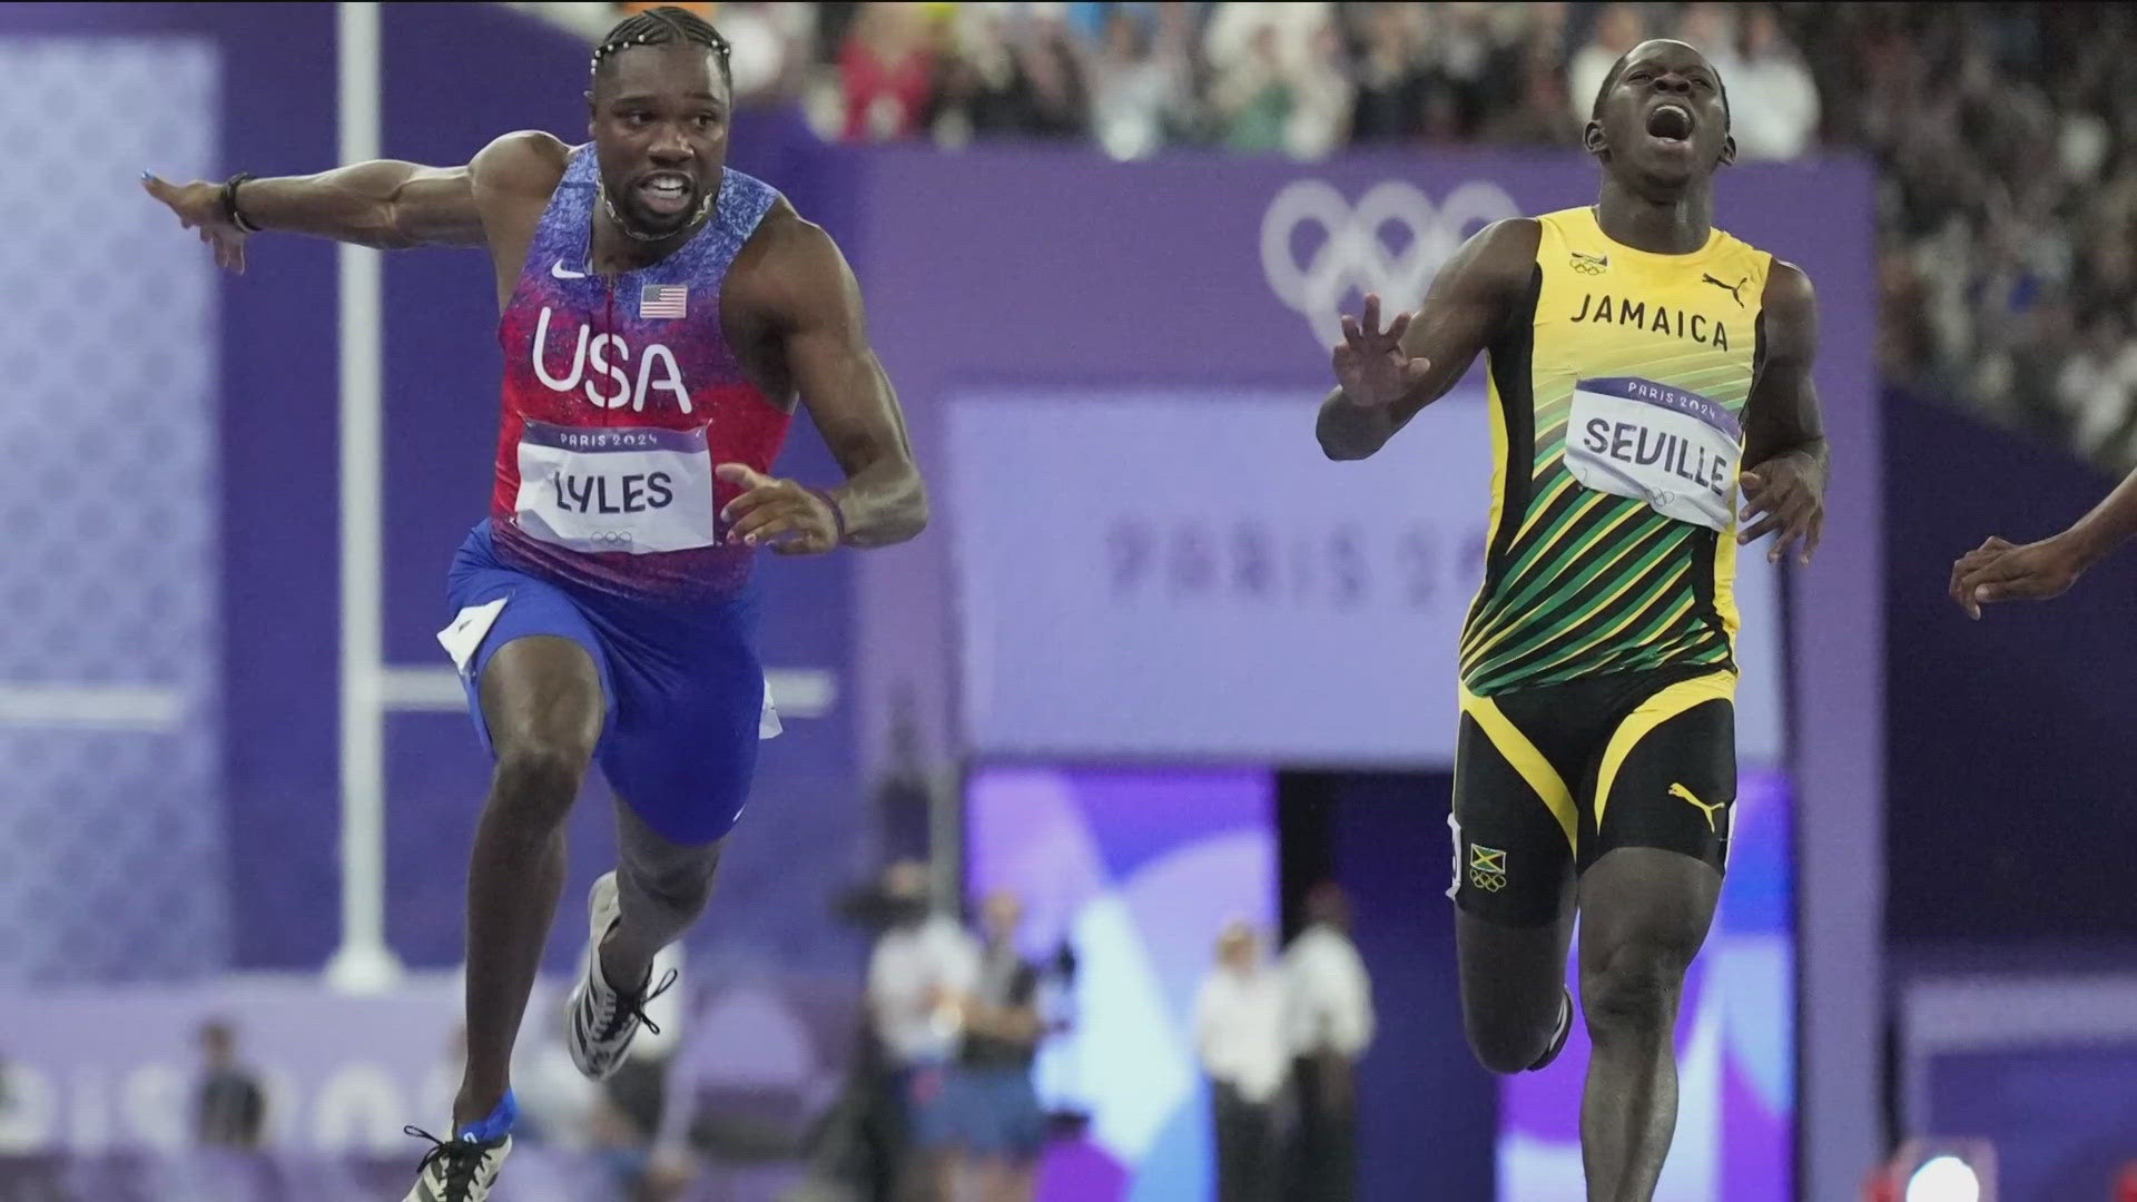
[[[1329,458],[1370,456],[1487,355],[1498,462],[1453,802],[1462,1003],[1487,1067],[1547,1065],[1584,915],[1588,1198],[1635,1202],[1675,1129],[1678,997],[1727,864],[1735,548],[1778,533],[1769,558],[1808,563],[1825,438],[1810,280],[1714,229],[1714,171],[1735,156],[1714,66],[1633,47],[1586,148],[1592,207],[1479,231],[1387,329],[1376,297],[1344,317],[1319,434]]]

